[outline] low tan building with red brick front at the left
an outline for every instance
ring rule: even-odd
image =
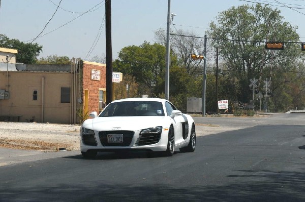
[[[71,65],[15,64],[17,50],[1,51],[0,57],[8,53],[11,60],[0,62],[0,120],[78,124],[105,106],[105,64],[78,59]]]

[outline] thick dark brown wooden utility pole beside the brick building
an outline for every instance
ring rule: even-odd
[[[111,43],[111,0],[105,2],[106,30],[106,104],[112,102],[112,43]]]

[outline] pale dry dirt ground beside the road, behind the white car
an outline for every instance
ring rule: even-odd
[[[203,136],[238,128],[196,125]],[[0,122],[0,147],[39,151],[79,150],[79,125]]]

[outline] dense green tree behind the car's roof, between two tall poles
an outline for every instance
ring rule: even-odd
[[[175,57],[171,57],[172,61]],[[113,70],[131,75],[139,85],[139,95],[156,95],[156,87],[164,80],[165,47],[144,42],[123,48],[113,62]]]

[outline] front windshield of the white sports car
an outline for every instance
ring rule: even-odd
[[[99,115],[107,116],[164,116],[162,102],[124,101],[112,102]]]

